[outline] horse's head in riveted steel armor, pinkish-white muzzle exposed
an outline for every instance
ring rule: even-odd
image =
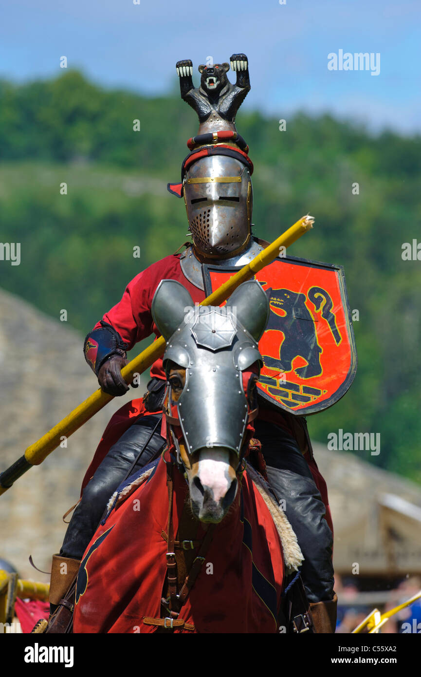
[[[247,425],[257,415],[267,295],[259,282],[243,282],[225,307],[195,306],[179,282],[162,280],[152,315],[167,341],[167,423],[178,454],[181,447],[192,508],[202,521],[220,521],[236,495]]]

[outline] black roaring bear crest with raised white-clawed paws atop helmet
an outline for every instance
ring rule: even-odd
[[[229,59],[236,72],[236,84],[227,78],[229,64],[213,64],[198,68],[200,87],[193,85],[193,62],[177,61],[175,66],[180,79],[181,98],[192,106],[199,118],[199,134],[217,131],[236,132],[236,114],[250,91],[248,59],[245,54],[233,54]]]

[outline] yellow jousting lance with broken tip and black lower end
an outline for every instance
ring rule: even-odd
[[[238,273],[234,274],[227,282],[221,284],[219,288],[210,296],[208,296],[200,305],[221,305],[223,301],[234,292],[242,282],[250,280],[259,270],[268,265],[275,259],[282,248],[290,246],[292,242],[301,238],[307,230],[313,227],[313,217],[307,215],[303,216],[299,221],[294,223],[288,230],[286,230],[279,238],[272,244],[269,244],[261,253],[257,255],[250,263],[247,263],[241,268]],[[150,367],[158,357],[163,355],[165,350],[165,340],[160,336],[152,345],[143,350],[137,357],[131,360],[122,370],[121,374],[127,383],[133,381],[134,374],[141,374],[148,367]],[[31,444],[25,451],[24,456],[21,456],[12,466],[9,466],[0,475],[0,496],[4,494],[14,481],[21,477],[26,471],[40,463],[47,458],[51,452],[60,445],[63,437],[69,437],[76,430],[78,430],[84,423],[89,420],[94,414],[99,412],[108,402],[114,399],[113,395],[107,395],[100,388],[95,391],[84,402],[79,404],[68,416],[63,418],[57,425],[51,428],[48,433],[45,433],[41,439],[34,444]]]

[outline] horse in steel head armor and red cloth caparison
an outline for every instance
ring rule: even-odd
[[[246,460],[259,454],[267,296],[250,281],[225,307],[194,307],[162,280],[152,315],[166,340],[167,445],[108,502],[81,561],[74,632],[286,632],[283,595],[303,555]]]

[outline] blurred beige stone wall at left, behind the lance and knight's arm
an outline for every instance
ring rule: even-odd
[[[67,322],[0,290],[0,471],[97,389],[83,339]],[[147,381],[108,403],[68,438],[67,448],[56,449],[0,496],[0,557],[21,577],[49,580],[32,569],[28,557],[49,571],[66,531],[62,515],[79,499],[108,420],[129,399],[141,397]]]

